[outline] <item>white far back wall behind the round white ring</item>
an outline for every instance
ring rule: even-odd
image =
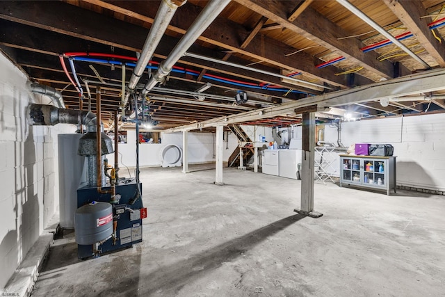
[[[161,133],[161,143],[141,143],[139,145],[139,166],[161,166],[161,152],[165,145],[174,144],[182,149],[182,132]],[[188,132],[188,163],[198,164],[215,161],[216,153],[215,133]],[[229,133],[228,144],[223,143],[224,160],[229,159],[230,154],[238,147],[236,136]],[[226,149],[228,147],[228,149]],[[136,166],[136,132],[127,131],[127,143],[119,145],[119,163],[128,167]],[[113,155],[108,156],[108,161],[113,160]]]

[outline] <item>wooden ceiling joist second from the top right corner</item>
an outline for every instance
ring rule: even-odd
[[[386,79],[394,78],[394,67],[389,61],[379,62],[375,52],[364,53],[360,50],[365,45],[358,38],[339,40],[343,36],[350,35],[340,26],[311,7],[305,8],[300,17],[293,22],[288,20],[289,12],[293,11],[293,1],[267,1],[267,0],[234,0],[237,3],[253,10],[260,15],[268,17],[273,22],[281,24],[284,28],[313,40],[331,51],[337,52],[359,66],[365,67]],[[405,67],[401,69],[401,75],[411,72]]]

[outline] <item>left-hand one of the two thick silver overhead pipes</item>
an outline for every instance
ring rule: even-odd
[[[186,3],[186,1],[187,0],[163,0],[161,2],[161,6],[159,6],[156,17],[154,17],[154,22],[147,35],[142,52],[140,53],[138,63],[136,63],[136,67],[133,69],[133,74],[131,74],[127,86],[129,93],[127,93],[125,104],[127,104],[129,94],[133,93],[135,90],[140,77],[144,73],[145,67],[147,67],[148,62],[152,58],[154,50],[159,45],[159,42],[161,41],[165,30],[167,30],[173,15],[175,15],[177,8]]]

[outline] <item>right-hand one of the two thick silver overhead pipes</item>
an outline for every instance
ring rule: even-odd
[[[231,0],[213,0],[207,3],[207,6],[204,7],[200,15],[195,19],[195,22],[188,28],[186,34],[182,36],[176,47],[172,49],[170,55],[159,65],[158,71],[149,79],[145,88],[142,90],[143,95],[147,95],[149,90],[152,90],[157,83],[162,81],[163,78],[172,71],[173,65],[177,63],[181,56],[184,56],[184,53],[193,45],[193,42],[210,26],[211,22],[218,17],[230,1]]]

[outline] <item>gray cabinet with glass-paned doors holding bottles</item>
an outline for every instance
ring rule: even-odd
[[[396,193],[396,156],[340,155],[340,186],[348,184]]]

